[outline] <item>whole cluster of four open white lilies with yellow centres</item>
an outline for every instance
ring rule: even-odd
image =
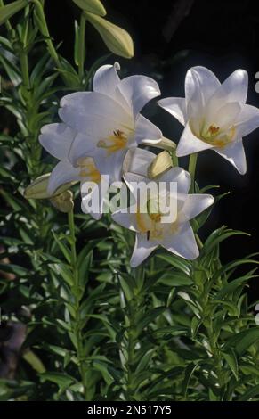
[[[101,175],[109,176],[110,183],[124,179],[130,190],[132,181],[137,185],[150,180],[149,167],[156,155],[139,145],[147,141],[156,145],[163,135],[140,112],[160,90],[155,80],[145,76],[120,80],[117,70],[118,63],[102,66],[94,75],[93,92],[63,97],[59,111],[62,122],[42,128],[40,143],[60,160],[53,168],[48,193],[73,181],[80,181],[83,190],[85,182],[91,181],[101,196]],[[185,98],[158,101],[184,126],[176,156],[214,149],[240,174],[246,172],[242,137],[259,127],[259,110],[246,104],[247,84],[245,70],[234,71],[221,84],[210,70],[194,67],[186,74]],[[141,264],[158,245],[182,258],[196,259],[198,246],[190,219],[214,202],[209,194],[188,193],[190,174],[180,167],[161,173],[155,181],[177,184],[173,222],[163,223],[159,212],[118,210],[112,214],[117,224],[136,232],[132,267]],[[86,203],[93,193],[94,188],[88,195],[82,194],[83,210],[87,211]],[[102,206],[101,199],[99,209],[91,214],[93,218],[101,218]]]

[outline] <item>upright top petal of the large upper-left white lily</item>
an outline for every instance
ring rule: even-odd
[[[120,70],[118,62],[114,65],[102,65],[94,74],[93,91],[115,98],[115,90],[120,82],[117,70]]]

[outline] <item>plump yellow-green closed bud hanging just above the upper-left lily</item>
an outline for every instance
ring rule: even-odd
[[[124,58],[134,56],[134,44],[125,29],[119,28],[96,14],[85,12],[86,19],[98,30],[109,51]]]

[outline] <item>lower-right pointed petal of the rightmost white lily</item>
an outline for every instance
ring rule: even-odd
[[[214,150],[224,159],[230,161],[234,168],[239,171],[240,175],[245,175],[247,172],[247,159],[242,139],[227,145],[223,149],[214,148]]]

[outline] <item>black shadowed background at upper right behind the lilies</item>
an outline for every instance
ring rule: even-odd
[[[259,2],[215,0],[106,0],[103,2],[110,21],[127,29],[134,38],[132,60],[119,57],[122,73],[146,74],[158,80],[162,96],[183,96],[186,71],[195,65],[213,70],[223,81],[238,68],[248,71],[247,102],[259,107],[255,93],[255,73],[259,71]],[[61,42],[61,53],[72,62],[74,19],[78,8],[70,0],[46,0],[45,10],[55,41]],[[89,65],[106,54],[99,34],[90,26],[86,31]],[[113,62],[111,56],[107,62]],[[166,111],[153,104],[144,113],[164,135],[178,141],[182,126]],[[223,262],[259,251],[259,129],[244,140],[247,174],[240,176],[235,168],[212,151],[198,154],[198,184],[220,185],[214,193],[231,193],[214,209],[206,224],[206,236],[212,229],[227,225],[243,230],[251,237],[236,236],[221,248]],[[186,161],[183,160],[186,164]],[[259,299],[256,280],[251,284],[253,298]]]

